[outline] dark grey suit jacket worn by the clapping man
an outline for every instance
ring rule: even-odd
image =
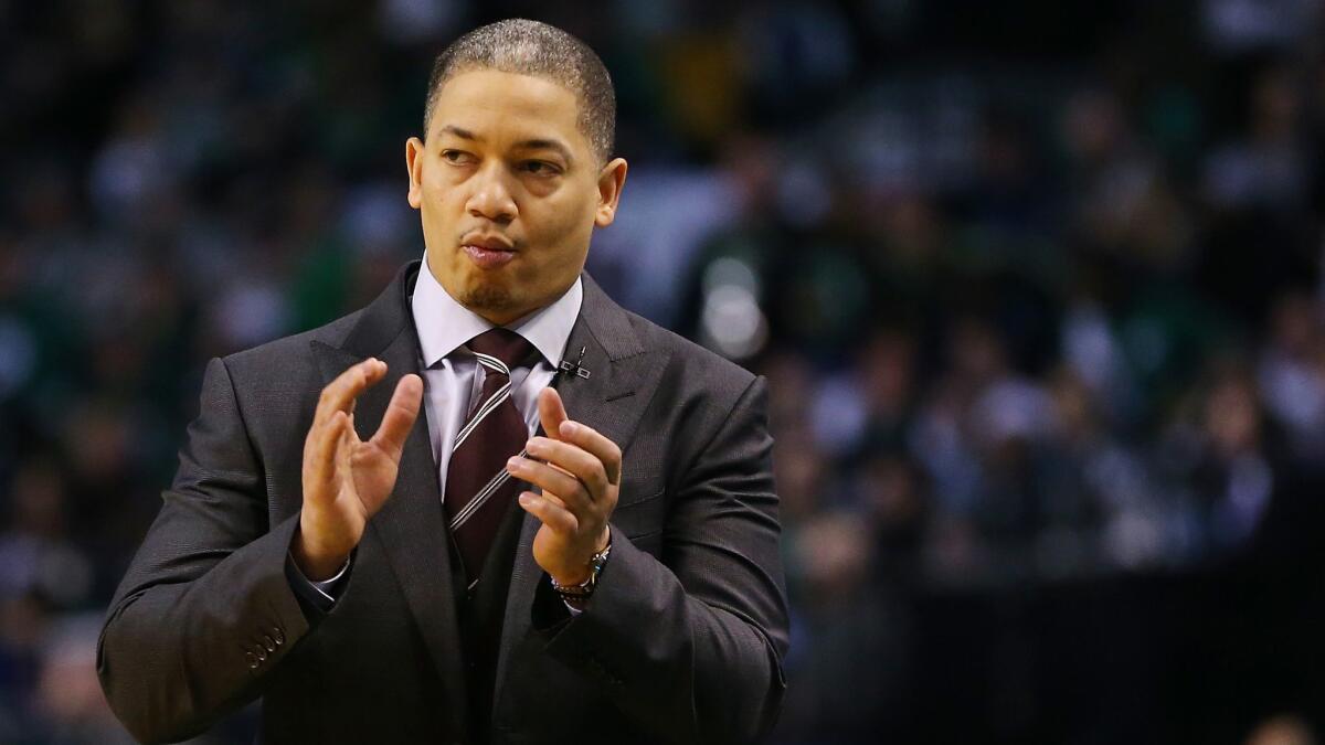
[[[318,394],[384,359],[387,379],[356,406],[371,436],[399,376],[419,370],[417,269],[327,326],[211,361],[179,472],[98,646],[117,716],[140,740],[172,741],[261,696],[266,742],[757,740],[776,717],[787,650],[765,380],[627,313],[587,274],[567,357],[583,347],[591,375],[558,390],[624,452],[612,555],[582,615],[541,614],[539,524],[523,516],[490,730],[465,724],[425,415],[335,607],[301,606],[284,569]]]

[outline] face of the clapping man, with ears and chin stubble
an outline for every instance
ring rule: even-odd
[[[405,143],[409,204],[441,286],[498,325],[555,301],[625,182],[625,160],[599,164],[575,94],[539,77],[460,73],[437,95],[427,138]]]

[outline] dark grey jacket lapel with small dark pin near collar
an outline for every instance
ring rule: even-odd
[[[625,451],[662,375],[665,359],[660,359],[661,353],[640,345],[625,312],[588,274],[582,278],[584,301],[566,343],[566,361],[579,361],[588,378],[574,371],[560,372],[554,387],[571,419],[588,424]],[[534,536],[539,526],[538,518],[523,516],[497,656],[494,712],[501,701],[510,651],[530,631],[534,591],[543,578],[543,570],[534,561]]]

